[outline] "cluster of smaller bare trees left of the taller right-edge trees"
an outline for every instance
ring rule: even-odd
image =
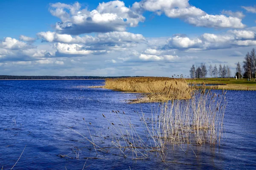
[[[210,77],[231,77],[231,70],[227,65],[219,65],[219,68],[217,68],[217,65],[212,67],[212,65],[209,65],[209,68],[207,70],[206,65],[204,63],[201,63],[200,66],[195,67],[195,65],[192,65],[190,68],[190,77],[191,78],[206,78],[207,74]]]

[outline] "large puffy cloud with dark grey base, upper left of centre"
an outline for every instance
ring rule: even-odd
[[[73,5],[54,3],[50,4],[49,11],[61,19],[61,22],[55,24],[56,31],[61,34],[125,31],[126,27],[135,27],[145,20],[143,15],[127,8],[119,0],[99,3],[92,11],[81,9],[77,2]]]

